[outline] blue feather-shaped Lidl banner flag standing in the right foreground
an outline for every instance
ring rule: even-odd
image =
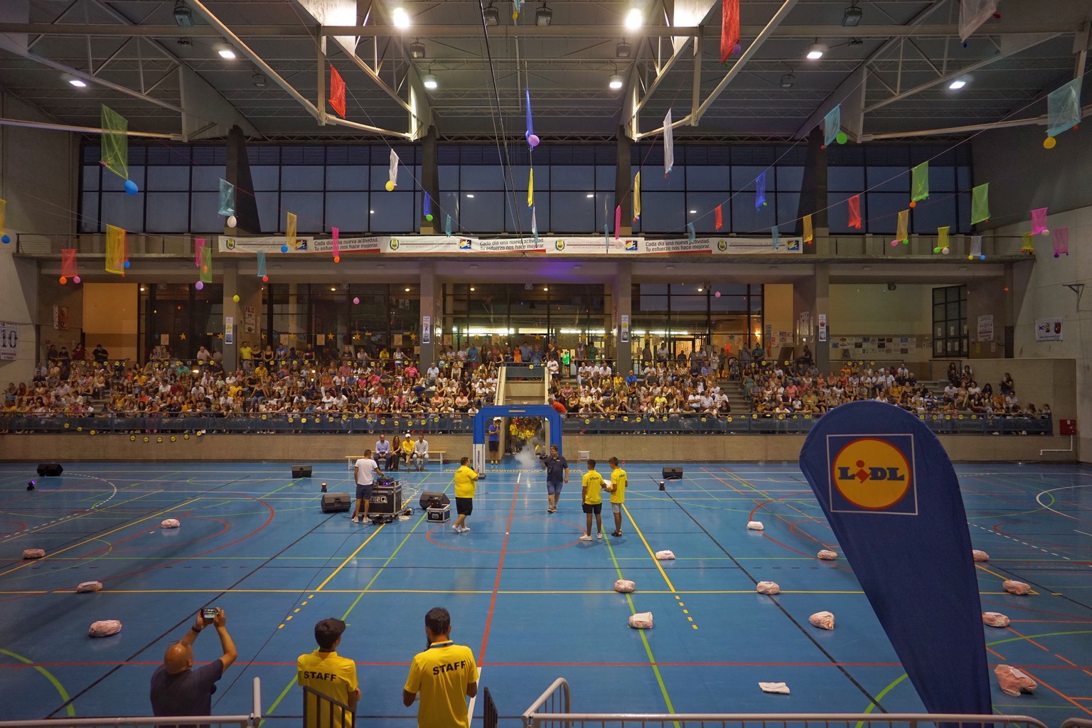
[[[971,536],[937,437],[898,407],[851,402],[811,429],[800,469],[926,709],[989,715]]]

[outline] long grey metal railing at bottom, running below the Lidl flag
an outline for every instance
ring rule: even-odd
[[[701,728],[924,728],[946,724],[959,728],[995,725],[1046,728],[1026,715],[961,715],[939,713],[570,713],[569,683],[558,678],[523,712],[523,728],[624,728],[625,726],[700,726]],[[1092,721],[1070,719],[1061,728],[1092,728]]]

